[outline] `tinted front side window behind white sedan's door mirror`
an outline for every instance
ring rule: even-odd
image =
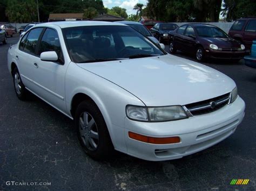
[[[55,30],[46,29],[39,45],[38,54],[42,52],[55,51],[58,57],[61,57],[62,50],[60,48],[59,37]]]

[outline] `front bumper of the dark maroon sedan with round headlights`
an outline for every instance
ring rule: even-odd
[[[207,52],[208,51],[208,52]],[[243,59],[245,56],[245,51],[214,51],[212,49],[207,49],[205,51],[207,58],[213,59]]]

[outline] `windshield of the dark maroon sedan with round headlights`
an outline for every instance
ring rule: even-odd
[[[196,26],[199,37],[228,38],[228,35],[221,29],[214,26]]]

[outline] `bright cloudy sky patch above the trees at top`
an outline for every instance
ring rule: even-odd
[[[136,10],[133,10],[134,5],[137,3],[147,4],[147,0],[103,0],[104,6],[112,8],[113,6],[120,6],[125,8],[128,15],[136,14]]]

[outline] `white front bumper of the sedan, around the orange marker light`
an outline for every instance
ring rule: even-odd
[[[238,97],[232,104],[200,116],[171,122],[136,122],[125,118],[127,154],[151,160],[171,160],[199,152],[230,136],[241,123],[245,103]],[[150,144],[131,139],[129,131],[150,137],[180,137],[180,143]]]

